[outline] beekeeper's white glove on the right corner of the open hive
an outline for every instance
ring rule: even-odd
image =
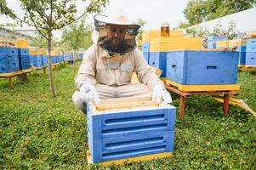
[[[166,88],[163,88],[161,85],[156,85],[152,94],[152,101],[160,103],[163,100],[165,103],[172,103],[171,94],[168,93]]]

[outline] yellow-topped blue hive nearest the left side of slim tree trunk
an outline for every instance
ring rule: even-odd
[[[29,59],[32,67],[41,68],[43,66],[39,48],[29,48]]]

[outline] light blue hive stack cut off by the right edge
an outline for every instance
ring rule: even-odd
[[[247,67],[256,67],[256,39],[247,39],[246,41],[246,59]]]

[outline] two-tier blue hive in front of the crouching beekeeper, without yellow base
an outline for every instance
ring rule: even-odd
[[[174,150],[174,106],[97,111],[89,104],[87,114],[94,163]]]

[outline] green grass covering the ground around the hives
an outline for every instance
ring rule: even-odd
[[[0,169],[104,169],[87,165],[86,117],[71,101],[77,68],[54,71],[55,99],[43,71],[15,81],[14,89],[0,80]],[[256,111],[255,72],[239,72],[238,79],[237,98]],[[255,169],[256,121],[249,113],[230,106],[225,116],[209,96],[187,99],[185,113],[176,121],[173,157],[106,169]]]

